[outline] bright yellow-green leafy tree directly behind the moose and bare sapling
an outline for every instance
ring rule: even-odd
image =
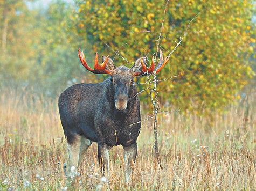
[[[119,53],[129,60],[147,53],[150,60],[156,52],[165,1],[87,0],[78,1],[77,6],[77,33],[86,35],[94,52],[114,55],[105,43],[114,50],[122,47]],[[185,36],[169,65],[157,76],[164,79],[180,74],[158,84],[161,100],[198,113],[222,109],[236,98],[237,91],[253,76],[248,62],[255,45],[253,7],[253,1],[238,0],[169,2],[160,41],[164,55],[169,55],[184,33]],[[199,12],[186,31],[189,21]]]

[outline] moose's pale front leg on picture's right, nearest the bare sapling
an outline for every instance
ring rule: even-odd
[[[123,150],[124,150],[123,158],[125,163],[124,174],[126,176],[126,182],[129,182],[130,173],[132,171],[130,166],[131,166],[132,160],[135,161],[137,156],[137,143],[127,147],[123,146]]]

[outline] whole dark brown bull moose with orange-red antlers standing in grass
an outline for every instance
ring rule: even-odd
[[[70,155],[64,168],[81,164],[85,152],[92,142],[98,143],[98,159],[101,169],[109,173],[109,150],[116,145],[124,149],[125,177],[130,179],[131,162],[137,155],[137,137],[141,129],[140,101],[135,76],[150,75],[159,72],[169,60],[160,61],[155,69],[154,57],[151,66],[146,67],[147,56],[135,61],[132,68],[123,65],[115,67],[113,60],[102,56],[98,63],[96,53],[94,69],[90,68],[83,52],[78,56],[84,67],[94,74],[109,74],[101,83],[75,84],[59,97],[59,113]]]

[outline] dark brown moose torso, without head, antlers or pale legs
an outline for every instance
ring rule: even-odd
[[[101,83],[69,87],[59,97],[60,118],[68,143],[73,143],[78,134],[109,147],[135,144],[141,127],[140,102],[136,94],[133,84],[128,97],[134,98],[129,99],[125,111],[119,111],[115,108],[110,78]]]

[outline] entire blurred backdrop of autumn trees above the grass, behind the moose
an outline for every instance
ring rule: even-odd
[[[78,47],[89,65],[99,52],[99,57],[110,55],[116,65],[129,67],[117,50],[130,63],[146,54],[150,60],[164,18],[163,54],[169,55],[176,42],[183,41],[158,73],[158,79],[179,75],[158,83],[161,107],[208,115],[254,94],[255,2],[172,1],[166,10],[165,4],[0,1],[1,89],[56,98],[74,83],[100,82],[107,75],[86,71],[77,56]],[[148,108],[147,91],[140,99]]]

